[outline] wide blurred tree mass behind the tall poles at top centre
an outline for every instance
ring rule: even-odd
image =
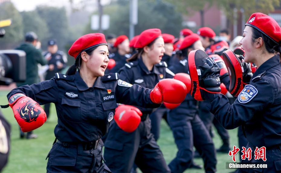
[[[104,14],[110,16],[110,27],[105,34],[125,34],[129,36],[129,0],[112,1],[104,7]],[[140,34],[145,29],[160,28],[162,33],[179,35],[182,28],[181,14],[174,5],[162,1],[138,1],[138,24],[135,25],[135,34]],[[86,26],[85,34],[96,32]]]

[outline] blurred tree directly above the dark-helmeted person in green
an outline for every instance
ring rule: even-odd
[[[42,20],[37,11],[21,12],[23,19],[24,33],[34,31],[38,35],[39,41],[48,38],[49,32],[45,20]]]

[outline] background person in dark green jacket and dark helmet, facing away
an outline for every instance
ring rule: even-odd
[[[38,76],[38,66],[37,64],[46,65],[47,60],[42,56],[40,49],[36,49],[38,42],[38,36],[34,32],[30,31],[25,34],[25,42],[22,43],[19,47],[15,48],[16,50],[22,50],[26,53],[26,80],[25,82],[16,83],[17,87],[23,85],[32,85],[34,83],[40,82]],[[20,138],[24,138],[24,132],[20,129]],[[37,138],[37,135],[33,132],[27,132],[27,139]]]

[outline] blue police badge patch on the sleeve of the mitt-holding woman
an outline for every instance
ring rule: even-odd
[[[248,103],[251,101],[258,93],[258,90],[253,85],[245,85],[244,89],[238,96],[238,101],[240,103]]]

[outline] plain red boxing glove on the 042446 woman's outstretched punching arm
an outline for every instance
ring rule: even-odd
[[[186,85],[179,80],[160,80],[150,92],[150,99],[153,103],[182,103],[186,98]]]

